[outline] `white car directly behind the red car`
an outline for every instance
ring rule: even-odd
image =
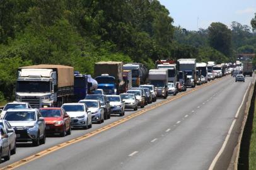
[[[61,108],[71,117],[71,127],[92,127],[91,111],[84,103],[64,103]]]

